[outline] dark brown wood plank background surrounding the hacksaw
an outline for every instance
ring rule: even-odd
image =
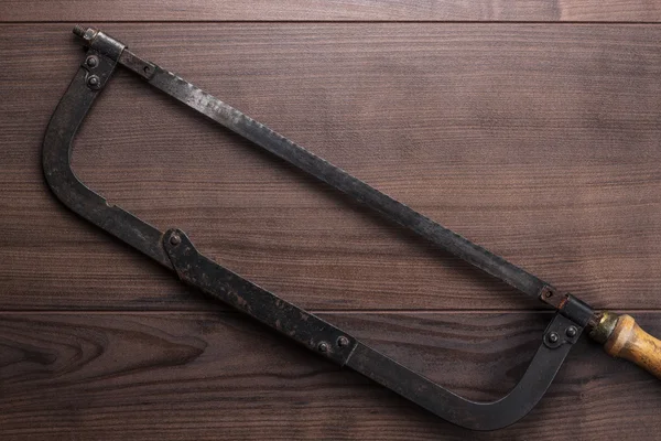
[[[44,129],[100,26],[310,150],[661,334],[661,3],[0,3],[0,438],[661,439],[661,384],[582,342],[467,432],[201,298],[47,191]],[[118,72],[74,168],[160,228],[475,399],[539,304]]]

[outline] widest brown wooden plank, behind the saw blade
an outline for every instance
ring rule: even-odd
[[[659,26],[107,31],[596,306],[661,306]],[[83,54],[69,32],[0,29],[0,308],[205,308],[47,192],[39,146]],[[537,308],[124,72],[76,146],[111,203],[305,308]]]

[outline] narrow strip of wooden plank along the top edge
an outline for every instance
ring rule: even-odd
[[[609,21],[652,22],[661,7],[644,0],[225,0],[162,2],[6,0],[3,22],[31,21]]]

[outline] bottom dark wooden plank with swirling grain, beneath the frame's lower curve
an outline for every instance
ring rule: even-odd
[[[326,319],[464,396],[494,399],[522,375],[550,314]],[[661,333],[658,313],[638,319]],[[491,433],[446,423],[237,314],[3,314],[0,359],[3,440],[642,441],[661,429],[658,380],[585,341],[528,417]]]

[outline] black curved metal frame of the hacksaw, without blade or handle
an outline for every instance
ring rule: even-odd
[[[80,32],[84,31],[78,30]],[[498,429],[516,422],[534,407],[583,332],[582,324],[556,314],[519,384],[500,400],[470,401],[206,258],[183,232],[173,229],[162,233],[129,212],[108,205],[104,197],[89,190],[73,172],[73,139],[120,56],[124,65],[134,63],[128,66],[132,71],[143,68],[144,77],[151,77],[154,68],[159,67],[124,52],[123,44],[102,32],[87,30],[84,36],[89,43],[87,56],[55,109],[43,143],[46,181],[67,207],[176,271],[186,283],[455,424],[475,430]]]

